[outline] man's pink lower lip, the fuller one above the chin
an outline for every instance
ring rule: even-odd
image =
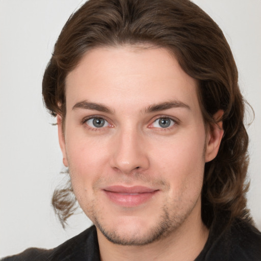
[[[133,207],[141,205],[148,200],[150,200],[155,193],[158,192],[145,192],[145,193],[134,193],[134,194],[128,194],[128,193],[120,193],[120,192],[111,192],[105,190],[105,194],[107,197],[117,205],[125,206],[125,207]]]

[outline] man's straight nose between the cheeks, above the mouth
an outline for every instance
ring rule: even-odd
[[[145,137],[137,129],[122,129],[117,134],[111,157],[111,167],[124,174],[149,168]]]

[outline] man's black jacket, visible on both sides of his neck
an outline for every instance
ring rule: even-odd
[[[91,226],[54,249],[30,248],[2,261],[100,261],[97,231]],[[223,230],[216,222],[195,261],[261,261],[261,233],[242,220]]]

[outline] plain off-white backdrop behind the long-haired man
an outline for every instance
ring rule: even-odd
[[[255,111],[248,206],[261,229],[261,1],[195,0],[220,25]],[[0,257],[53,248],[90,226],[79,210],[63,230],[50,200],[62,179],[57,126],[43,108],[41,81],[54,43],[80,0],[0,0]],[[248,117],[248,121],[251,117]]]

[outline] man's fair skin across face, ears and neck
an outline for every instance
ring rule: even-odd
[[[197,81],[164,48],[95,48],[67,75],[66,108],[64,127],[57,118],[63,162],[97,227],[101,259],[194,260],[208,236],[204,164],[223,135],[222,123],[205,128]],[[95,117],[105,125],[95,127]],[[111,186],[154,192],[138,204],[123,196],[122,205]]]

